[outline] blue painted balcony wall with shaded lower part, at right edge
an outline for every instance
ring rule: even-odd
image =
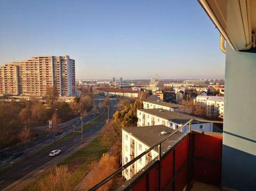
[[[227,45],[222,186],[256,191],[256,53]]]

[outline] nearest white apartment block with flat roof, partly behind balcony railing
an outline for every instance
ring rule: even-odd
[[[161,133],[162,132],[162,133]],[[165,132],[165,133],[163,133]],[[122,164],[125,165],[130,160],[137,157],[142,152],[148,150],[158,141],[168,136],[173,130],[164,125],[154,125],[145,127],[129,127],[122,129]],[[186,134],[182,132],[175,133],[172,138],[162,143],[162,155],[173,147]],[[139,160],[135,161],[122,172],[124,178],[129,180],[138,171],[144,168],[151,160],[158,156],[157,148],[151,150]]]

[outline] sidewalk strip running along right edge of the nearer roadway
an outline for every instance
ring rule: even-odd
[[[91,135],[89,138],[86,139],[86,141],[79,145],[78,147],[70,147],[65,153],[63,153],[61,156],[58,156],[54,158],[53,160],[50,160],[45,165],[41,166],[40,168],[34,170],[30,174],[24,176],[17,182],[11,184],[7,188],[5,188],[3,191],[21,191],[25,186],[27,186],[29,183],[31,183],[36,178],[42,176],[44,173],[47,172],[50,168],[54,167],[55,165],[58,165],[62,160],[65,160],[68,156],[79,150],[80,148],[88,145],[91,143],[92,140],[94,140],[97,136],[99,136],[100,130],[96,131],[93,135]]]

